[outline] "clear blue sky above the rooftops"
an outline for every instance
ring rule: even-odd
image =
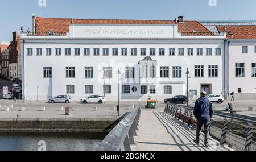
[[[43,0],[44,1],[44,0]],[[256,20],[255,0],[0,0],[0,41],[11,32],[31,29],[31,15],[80,19]]]

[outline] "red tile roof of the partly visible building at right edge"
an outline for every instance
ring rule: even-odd
[[[217,26],[217,29],[223,32],[224,27],[228,39],[256,39],[256,26]],[[233,36],[229,34],[230,32]]]

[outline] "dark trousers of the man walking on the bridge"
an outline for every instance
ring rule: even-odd
[[[201,128],[204,125],[204,144],[208,144],[209,140],[209,126],[210,122],[201,122],[197,120],[196,122],[196,140],[199,142],[200,134],[201,134]]]

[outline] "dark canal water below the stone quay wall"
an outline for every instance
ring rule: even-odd
[[[105,132],[0,132],[0,151],[90,151]]]

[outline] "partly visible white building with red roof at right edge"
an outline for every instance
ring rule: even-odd
[[[256,22],[201,22],[226,31],[226,88],[235,99],[256,99]]]

